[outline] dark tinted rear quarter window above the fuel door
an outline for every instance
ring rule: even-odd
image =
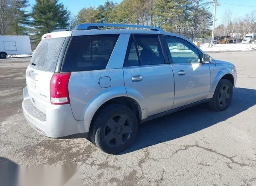
[[[105,69],[118,37],[119,34],[72,37],[62,71]]]

